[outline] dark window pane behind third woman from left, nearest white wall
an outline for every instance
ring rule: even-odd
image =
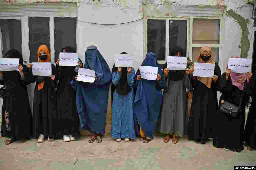
[[[59,59],[61,49],[71,46],[77,49],[77,18],[55,18],[55,62]]]

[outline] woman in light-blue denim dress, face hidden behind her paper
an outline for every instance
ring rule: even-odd
[[[121,54],[127,54],[125,52]],[[112,68],[112,138],[117,142],[122,139],[136,139],[133,117],[133,79],[134,68]]]

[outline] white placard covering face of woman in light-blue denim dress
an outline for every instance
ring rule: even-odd
[[[115,67],[133,67],[131,54],[115,54]]]

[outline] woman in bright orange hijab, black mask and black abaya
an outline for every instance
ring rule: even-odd
[[[41,45],[37,51],[38,62],[51,62],[50,52],[46,45]],[[31,83],[36,82],[33,120],[34,120],[34,137],[38,138],[38,143],[55,138],[56,129],[56,91],[55,91],[55,66],[52,64],[51,76],[33,76],[32,64],[28,64],[29,80]]]

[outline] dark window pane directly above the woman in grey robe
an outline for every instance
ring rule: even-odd
[[[174,56],[177,46],[182,48],[182,56],[187,56],[187,21],[170,20],[169,22],[169,56]]]

